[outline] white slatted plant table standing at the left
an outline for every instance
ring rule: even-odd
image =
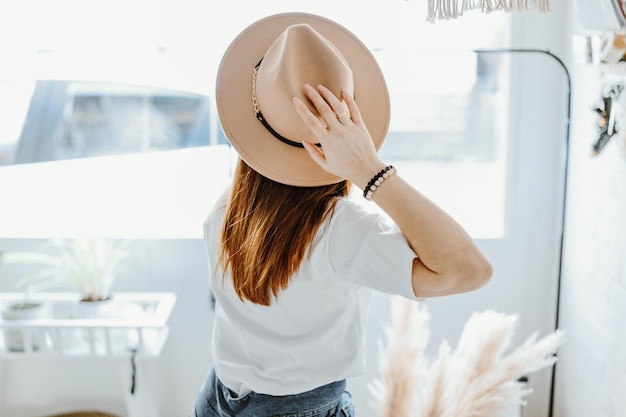
[[[19,302],[22,293],[0,293],[0,308]],[[106,317],[78,318],[78,295],[41,293],[43,318],[0,318],[0,359],[34,356],[158,356],[168,336],[172,293],[119,293]]]

